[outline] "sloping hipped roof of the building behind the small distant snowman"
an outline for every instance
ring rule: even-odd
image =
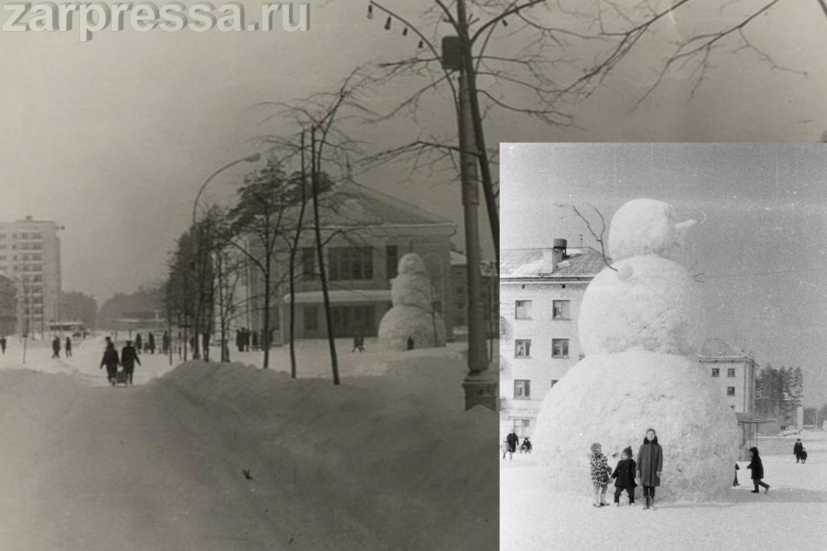
[[[323,223],[328,226],[455,226],[445,216],[355,182],[340,183],[325,195]]]

